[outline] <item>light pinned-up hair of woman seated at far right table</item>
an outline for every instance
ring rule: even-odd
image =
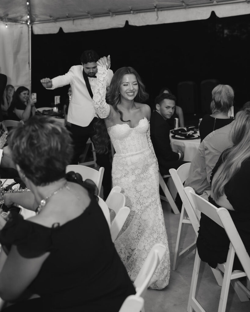
[[[233,105],[234,91],[230,85],[217,85],[212,90],[212,113],[227,113]]]

